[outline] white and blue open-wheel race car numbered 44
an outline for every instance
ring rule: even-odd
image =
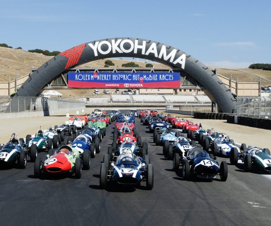
[[[224,133],[220,133],[219,136],[213,140],[211,147],[214,156],[221,154],[229,157],[232,149],[235,149],[240,153],[240,149],[234,145],[234,141],[229,139],[229,136]]]

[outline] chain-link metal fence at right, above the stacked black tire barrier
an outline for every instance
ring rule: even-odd
[[[271,118],[271,98],[237,97],[237,115],[255,118]]]

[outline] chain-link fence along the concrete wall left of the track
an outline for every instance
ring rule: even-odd
[[[67,101],[61,98],[47,97],[13,97],[5,113],[25,111],[48,111],[61,108],[85,107],[84,101]],[[2,110],[1,110],[2,113]]]

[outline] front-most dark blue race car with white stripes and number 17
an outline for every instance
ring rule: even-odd
[[[109,155],[104,155],[104,161],[100,169],[100,188],[105,189],[107,182],[114,181],[120,185],[138,185],[146,181],[148,190],[153,188],[153,167],[150,164],[149,156],[145,159],[134,155],[129,147],[117,157],[115,162],[110,164]]]

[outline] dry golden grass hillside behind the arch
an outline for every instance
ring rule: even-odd
[[[8,82],[9,76],[11,76],[11,80],[14,80],[15,73],[17,72],[17,76],[21,73],[21,75],[26,75],[30,73],[30,68],[35,67],[39,68],[42,64],[51,59],[51,56],[45,56],[39,53],[30,53],[25,50],[18,49],[10,49],[5,47],[0,47],[0,82]],[[80,67],[104,67],[104,62],[107,59],[97,60],[93,62],[86,63],[81,65]],[[122,59],[110,59],[115,67],[121,67],[122,64],[131,62],[131,60],[122,60]],[[145,67],[146,62],[142,61],[134,61],[140,67]],[[167,67],[166,65],[153,63],[155,68]],[[240,82],[253,82],[259,81],[259,78],[254,76],[260,76],[266,79],[271,80],[271,71],[263,71],[263,70],[254,70],[249,68],[243,69],[226,69],[226,68],[217,68],[218,74],[222,74],[224,76],[230,77],[232,74],[233,80],[236,80],[238,77],[238,81]],[[262,85],[268,86],[271,85],[269,82],[262,81]]]

